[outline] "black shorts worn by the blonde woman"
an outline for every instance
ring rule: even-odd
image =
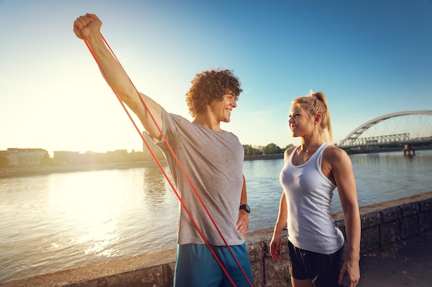
[[[315,287],[339,286],[340,269],[346,259],[346,244],[339,251],[326,255],[295,247],[288,241],[289,272],[294,279],[309,279]]]

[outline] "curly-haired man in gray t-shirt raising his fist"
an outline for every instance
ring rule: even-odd
[[[237,136],[220,128],[221,122],[230,121],[230,114],[237,107],[242,92],[238,79],[229,70],[197,74],[186,94],[194,118],[190,123],[137,92],[107,49],[100,33],[101,24],[95,14],[86,14],[74,22],[74,32],[79,39],[86,39],[107,83],[164,151],[177,191],[191,215],[180,206],[174,286],[232,286],[230,280],[235,286],[251,286],[251,264],[244,242],[250,212],[242,173],[244,149]],[[227,272],[219,266],[204,239]]]

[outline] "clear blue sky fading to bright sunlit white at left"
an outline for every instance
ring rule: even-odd
[[[233,70],[244,92],[222,129],[243,145],[297,145],[291,102],[311,90],[327,96],[335,143],[373,118],[432,110],[431,0],[0,0],[0,150],[143,150],[72,32],[86,12],[139,92],[171,113],[192,120],[195,74]]]

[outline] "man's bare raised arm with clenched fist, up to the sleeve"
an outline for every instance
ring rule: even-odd
[[[79,39],[85,39],[90,45],[90,49],[99,64],[101,74],[108,85],[115,91],[121,101],[138,116],[148,134],[160,140],[161,134],[150,114],[153,115],[157,125],[162,129],[161,106],[148,96],[137,92],[126,71],[106,47],[101,36],[101,25],[101,20],[95,14],[86,14],[75,20],[73,30]],[[140,96],[146,103],[148,110],[141,103]]]

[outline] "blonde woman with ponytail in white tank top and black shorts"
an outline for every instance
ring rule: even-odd
[[[360,213],[348,154],[331,142],[331,120],[322,92],[293,101],[288,121],[298,147],[286,149],[279,176],[284,192],[271,240],[271,255],[281,257],[281,232],[288,229],[289,271],[294,287],[349,287],[360,280]],[[346,242],[331,217],[337,187],[344,212]]]

